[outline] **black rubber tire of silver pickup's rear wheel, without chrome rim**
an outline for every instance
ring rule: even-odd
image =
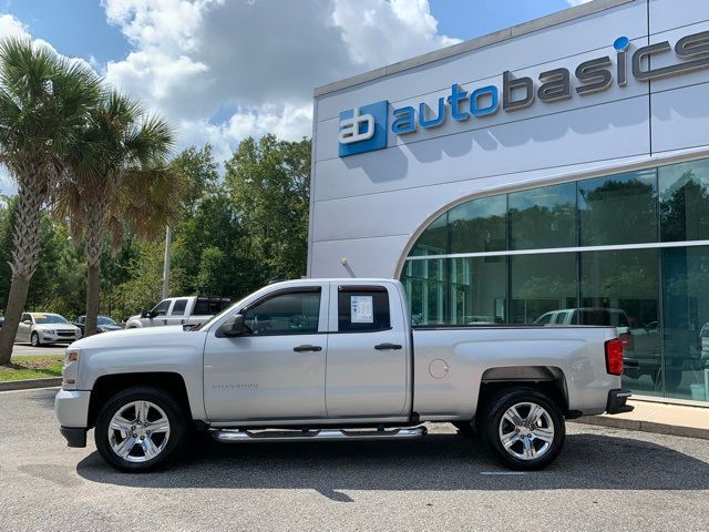
[[[540,449],[540,451],[544,449],[544,451],[536,458],[522,459],[513,456],[513,452],[517,454],[524,454],[525,452],[524,438],[521,438],[516,432],[515,434],[517,440],[515,440],[515,443],[511,447],[511,451],[507,451],[501,441],[500,432],[501,423],[503,423],[503,417],[508,409],[520,403],[538,405],[545,410],[547,416],[543,417],[543,419],[538,421],[540,426],[535,428],[537,432],[540,432],[540,430],[548,432],[548,421],[551,420],[553,423],[553,437],[552,441],[548,442],[548,447],[545,448],[544,446],[546,442],[541,439],[537,440],[536,438],[533,438],[528,440],[535,449],[534,453],[537,452],[536,449]],[[520,407],[518,410],[521,417],[525,416],[525,412],[527,417],[530,416],[531,409],[525,411],[525,408],[527,407]],[[525,422],[528,421],[527,419],[523,420]],[[506,419],[504,423],[503,431],[514,430],[511,429],[512,423]],[[517,471],[534,471],[543,469],[552,463],[562,451],[564,440],[566,438],[564,413],[559,406],[545,393],[532,388],[507,389],[493,397],[484,408],[480,430],[483,436],[483,440],[492,454],[506,468]],[[523,427],[523,430],[526,430],[526,427]]]

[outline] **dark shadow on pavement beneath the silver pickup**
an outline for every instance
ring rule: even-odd
[[[430,433],[419,441],[223,444],[198,438],[163,471],[120,473],[96,452],[82,478],[135,488],[311,489],[338,502],[351,490],[707,490],[709,463],[598,429],[569,434],[544,471],[508,474],[476,439]]]

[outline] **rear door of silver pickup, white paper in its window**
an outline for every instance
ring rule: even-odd
[[[408,415],[408,328],[394,286],[333,284],[330,309],[328,417]]]

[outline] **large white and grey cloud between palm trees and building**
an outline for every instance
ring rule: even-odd
[[[133,48],[106,79],[224,158],[247,135],[310,135],[315,86],[458,42],[428,0],[103,3]]]

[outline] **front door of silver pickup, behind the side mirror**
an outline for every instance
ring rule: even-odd
[[[204,352],[212,421],[326,417],[328,294],[328,283],[271,291],[235,313],[250,329],[238,337],[219,338],[215,324]]]

